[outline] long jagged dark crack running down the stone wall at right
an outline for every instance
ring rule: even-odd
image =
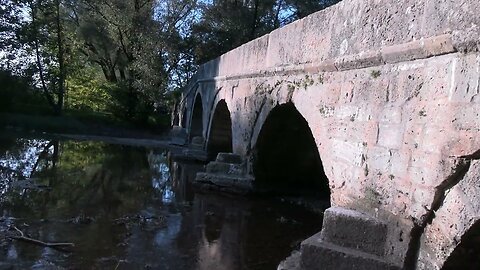
[[[465,177],[470,169],[471,161],[474,159],[479,159],[479,154],[480,150],[472,155],[457,157],[458,160],[455,168],[453,168],[453,173],[435,188],[435,194],[430,205],[430,209],[425,208],[427,213],[422,215],[420,220],[413,221],[414,225],[410,231],[410,243],[405,256],[403,269],[414,270],[417,268],[418,256],[421,247],[420,241],[425,232],[425,228],[429,224],[432,224],[433,220],[435,219],[435,212],[437,212],[443,206],[448,191],[455,187]]]

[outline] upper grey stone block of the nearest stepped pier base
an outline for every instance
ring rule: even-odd
[[[388,228],[380,220],[340,207],[325,210],[321,238],[325,242],[383,256]]]

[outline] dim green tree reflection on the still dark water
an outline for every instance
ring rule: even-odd
[[[148,165],[143,149],[98,142],[64,142],[56,168],[50,199],[56,205],[77,211],[106,213],[136,208],[135,190],[149,188]]]

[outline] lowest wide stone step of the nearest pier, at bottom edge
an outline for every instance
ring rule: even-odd
[[[302,242],[304,270],[400,270],[382,257],[324,242],[316,234]]]

